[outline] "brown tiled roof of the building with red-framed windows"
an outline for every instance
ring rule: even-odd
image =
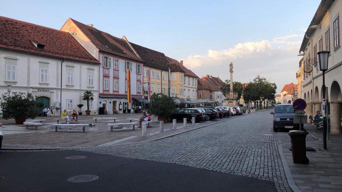
[[[75,25],[86,35],[89,40],[97,47],[97,49],[123,57],[142,61],[131,49],[126,40],[114,37],[109,33],[100,31],[95,27],[78,22],[73,18],[71,19]]]

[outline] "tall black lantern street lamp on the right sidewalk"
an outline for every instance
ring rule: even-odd
[[[323,101],[322,101],[322,114],[323,114],[323,148],[327,149],[327,125],[325,119],[325,82],[324,82],[324,73],[328,69],[328,58],[330,51],[320,51],[318,52],[318,60],[319,60],[319,70],[322,71],[323,77]]]

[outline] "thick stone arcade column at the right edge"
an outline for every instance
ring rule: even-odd
[[[330,133],[341,133],[341,102],[330,102]]]

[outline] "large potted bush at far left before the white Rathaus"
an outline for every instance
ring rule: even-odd
[[[38,105],[31,93],[13,92],[1,96],[0,107],[4,119],[14,118],[15,124],[23,124],[27,118],[34,119],[38,113]]]

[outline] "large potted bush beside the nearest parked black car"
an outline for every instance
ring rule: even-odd
[[[165,122],[168,116],[174,114],[175,110],[176,106],[171,97],[161,93],[154,93],[150,98],[147,112],[158,116],[159,121]]]

